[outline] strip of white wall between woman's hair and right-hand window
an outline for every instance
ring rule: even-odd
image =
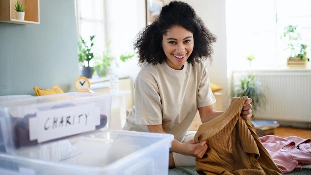
[[[213,44],[213,61],[207,61],[210,81],[224,88],[223,99],[227,101],[229,93],[227,78],[227,44],[226,44],[226,12],[225,0],[184,0],[191,5],[205,26],[217,37]],[[223,109],[227,104],[222,104]]]

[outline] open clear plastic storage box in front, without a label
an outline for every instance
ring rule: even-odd
[[[101,129],[0,153],[0,174],[168,174],[171,134]]]

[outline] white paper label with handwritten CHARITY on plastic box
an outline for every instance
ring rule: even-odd
[[[37,112],[29,121],[30,140],[38,143],[95,130],[100,124],[100,109],[83,105]]]

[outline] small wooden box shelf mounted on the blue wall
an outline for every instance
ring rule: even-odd
[[[19,0],[26,6],[24,20],[17,20],[14,5],[17,0],[0,1],[0,22],[15,24],[40,24],[39,0]]]

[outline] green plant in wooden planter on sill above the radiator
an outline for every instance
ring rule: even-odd
[[[287,40],[287,46],[290,49],[290,56],[287,58],[287,66],[306,67],[307,62],[310,61],[307,57],[308,45],[303,43],[300,34],[297,32],[297,26],[286,26],[283,36]]]

